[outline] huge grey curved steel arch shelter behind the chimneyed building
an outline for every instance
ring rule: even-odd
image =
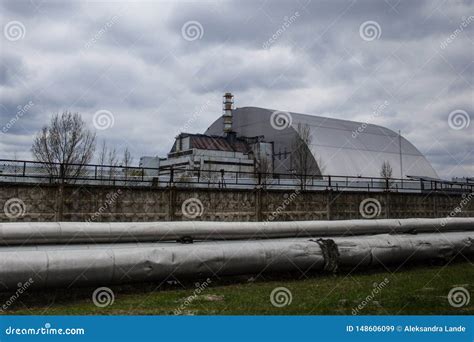
[[[265,141],[274,143],[275,172],[290,171],[289,155],[298,125],[307,125],[311,135],[308,147],[322,174],[380,177],[382,163],[388,161],[394,178],[438,178],[431,164],[412,143],[382,126],[258,107],[237,108],[232,115],[233,131],[238,136],[263,136]],[[278,121],[278,117],[287,117],[287,124]],[[223,135],[223,126],[221,117],[206,134]]]

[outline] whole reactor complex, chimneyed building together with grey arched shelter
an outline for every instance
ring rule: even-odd
[[[234,108],[204,134],[181,133],[166,158],[142,157],[140,166],[195,172],[224,171],[380,177],[388,163],[393,178],[439,179],[423,154],[400,134],[378,125],[258,107]]]

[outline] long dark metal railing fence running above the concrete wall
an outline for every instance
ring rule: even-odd
[[[59,164],[0,159],[0,182],[115,186],[267,188],[336,191],[470,193],[472,182],[222,170],[158,169],[123,165]]]

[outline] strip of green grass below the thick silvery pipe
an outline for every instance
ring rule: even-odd
[[[115,301],[105,308],[92,302],[94,288],[28,290],[8,308],[6,314],[25,315],[173,315],[181,305],[189,315],[351,315],[374,289],[374,283],[388,283],[358,314],[378,315],[472,315],[474,314],[473,264],[464,261],[444,266],[417,265],[395,271],[375,270],[367,273],[337,275],[295,275],[278,279],[248,277],[213,280],[190,304],[194,283],[140,284],[111,286]],[[184,286],[184,288],[183,288]],[[292,293],[290,305],[277,308],[270,302],[270,293],[284,286]],[[456,286],[471,292],[471,301],[454,308],[447,300]],[[10,295],[0,294],[0,303]]]

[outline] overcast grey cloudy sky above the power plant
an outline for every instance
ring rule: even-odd
[[[32,159],[64,110],[135,163],[164,156],[231,91],[400,129],[440,176],[474,175],[473,1],[0,2],[0,158]]]

